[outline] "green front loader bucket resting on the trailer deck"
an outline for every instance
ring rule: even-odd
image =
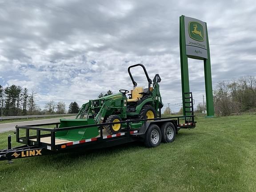
[[[59,128],[95,124],[93,119],[60,119]],[[56,132],[56,138],[64,140],[85,140],[99,135],[98,127],[78,128]]]

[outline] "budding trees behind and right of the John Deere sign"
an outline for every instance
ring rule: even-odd
[[[217,116],[256,111],[256,76],[219,82],[213,90],[213,100]],[[202,112],[204,109],[206,104],[199,103],[196,112]]]

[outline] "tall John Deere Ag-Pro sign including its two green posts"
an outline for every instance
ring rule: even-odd
[[[195,18],[180,16],[180,68],[184,115],[190,115],[190,112],[186,112],[186,106],[189,108],[188,98],[184,97],[184,92],[189,92],[188,57],[204,60],[207,116],[214,116],[211,61],[206,23]]]

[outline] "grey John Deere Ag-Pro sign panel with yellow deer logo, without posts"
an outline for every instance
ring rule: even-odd
[[[208,59],[205,38],[206,24],[203,21],[191,17],[185,17],[184,21],[186,52],[188,57],[196,56]]]

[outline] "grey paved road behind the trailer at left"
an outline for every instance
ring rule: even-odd
[[[59,117],[59,118],[53,118],[53,119],[31,120],[31,121],[16,121],[16,122],[12,122],[12,123],[3,123],[3,124],[0,124],[0,133],[15,130],[16,125],[24,126],[24,125],[32,125],[32,124],[57,123],[57,122],[60,122],[60,118],[74,119],[75,116]]]

